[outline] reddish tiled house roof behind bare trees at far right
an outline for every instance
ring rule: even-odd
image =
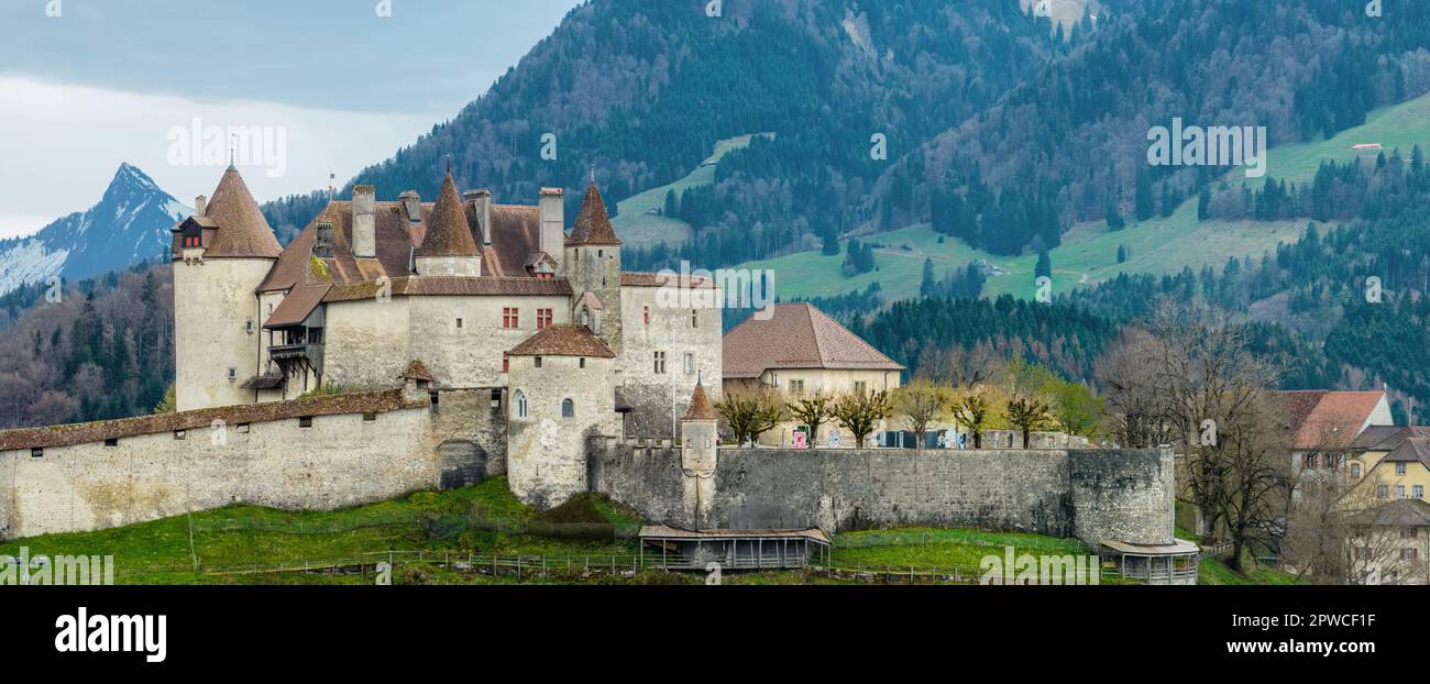
[[[1344,449],[1369,426],[1386,392],[1274,391],[1267,402],[1296,449]]]

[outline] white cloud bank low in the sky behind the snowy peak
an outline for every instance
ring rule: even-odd
[[[210,195],[227,166],[217,159],[173,163],[173,129],[202,126],[283,130],[283,175],[273,165],[240,163],[259,202],[339,185],[362,167],[410,145],[452,113],[382,114],[275,104],[196,102],[21,77],[0,77],[0,238],[44,228],[99,200],[122,162],[149,173],[183,203]],[[204,163],[207,162],[207,163]],[[37,216],[43,220],[36,222]]]

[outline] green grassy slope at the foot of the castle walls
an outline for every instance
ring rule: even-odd
[[[582,495],[552,511],[538,512],[508,491],[503,478],[445,492],[418,492],[400,499],[330,512],[286,512],[252,505],[177,515],[122,528],[54,534],[0,544],[0,555],[113,555],[119,584],[362,584],[370,564],[390,558],[395,584],[701,584],[699,572],[631,572],[639,557],[633,538],[639,518],[598,495]],[[1075,539],[978,529],[902,528],[855,531],[834,539],[831,565],[841,577],[818,572],[726,572],[725,584],[851,584],[855,571],[895,575],[911,565],[964,578],[977,577],[987,555],[1085,554]],[[420,555],[419,555],[420,554]],[[546,557],[551,577],[498,577],[443,567],[469,554],[525,557],[539,567]],[[419,561],[420,558],[420,561]],[[329,565],[369,564],[365,572],[316,572]],[[430,561],[430,562],[422,562]],[[572,574],[565,574],[569,567]],[[611,564],[616,572],[609,571]],[[583,565],[596,572],[582,572]],[[277,571],[279,565],[283,571]],[[528,565],[531,568],[532,565]],[[296,571],[305,568],[306,571]],[[864,580],[867,581],[867,578]],[[895,580],[897,581],[897,580]]]

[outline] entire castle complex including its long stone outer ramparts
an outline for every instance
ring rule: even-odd
[[[493,205],[450,172],[436,202],[355,186],[287,248],[233,167],[196,205],[173,228],[177,411],[0,431],[0,539],[505,475],[538,508],[599,492],[685,529],[977,527],[1195,557],[1170,449],[722,445],[726,365],[795,394],[894,388],[901,366],[808,305],[722,339],[718,278],[623,272],[593,183],[569,235],[561,190]]]

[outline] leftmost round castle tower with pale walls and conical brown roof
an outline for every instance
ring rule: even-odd
[[[199,213],[173,232],[174,401],[179,411],[252,404],[263,372],[263,312],[255,292],[277,239],[239,170],[229,166]]]

